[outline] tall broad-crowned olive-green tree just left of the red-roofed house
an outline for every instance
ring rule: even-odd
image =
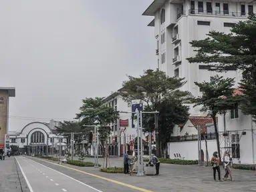
[[[164,134],[164,130],[166,129],[171,133],[172,128],[169,128],[172,127],[174,123],[174,121],[170,118],[166,120],[162,117],[164,117],[164,114],[166,116],[170,115],[168,113],[171,110],[175,109],[174,103],[178,103],[178,105],[181,105],[182,103],[190,101],[190,93],[188,91],[179,90],[180,87],[182,87],[186,83],[186,81],[184,81],[184,79],[176,77],[168,77],[163,71],[158,70],[147,70],[144,71],[144,74],[140,75],[140,77],[128,76],[128,78],[128,81],[124,81],[123,88],[121,90],[124,101],[131,104],[134,100],[140,100],[144,103],[144,107],[147,111],[160,111],[160,116],[158,115],[158,127],[155,127],[155,131],[158,131],[160,134],[162,134],[161,136],[156,134],[156,151],[158,153],[157,155],[160,156],[161,140],[159,139],[159,137],[169,137],[168,134]],[[166,107],[163,107],[166,104],[168,104],[169,107],[172,107],[172,109],[167,109]],[[187,113],[188,112],[186,111],[183,116],[186,117]],[[178,114],[180,113],[177,113],[177,115]],[[172,115],[176,117],[175,113],[172,113]],[[150,115],[147,115],[146,117],[149,116]],[[152,115],[150,118],[151,120],[146,118],[147,120],[146,122],[144,122],[144,125],[146,125],[146,127],[153,127],[154,120],[152,120],[152,118],[154,118],[154,116]],[[146,124],[147,122],[148,124]],[[165,127],[165,125],[168,125],[168,127]],[[160,129],[163,130],[161,131]],[[167,141],[168,138],[164,139],[164,143],[166,143]]]

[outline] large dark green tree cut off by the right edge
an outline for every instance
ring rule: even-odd
[[[251,15],[247,21],[239,21],[225,34],[211,31],[207,39],[192,41],[197,55],[188,58],[190,63],[207,63],[213,71],[237,69],[242,72],[241,88],[246,115],[256,118],[256,16]]]

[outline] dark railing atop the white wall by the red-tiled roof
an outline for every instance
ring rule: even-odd
[[[216,139],[215,133],[209,133],[209,134],[202,134],[201,135],[201,140],[213,140]],[[170,137],[170,142],[180,142],[180,141],[197,141],[198,140],[198,135],[181,135],[181,136],[172,136]]]

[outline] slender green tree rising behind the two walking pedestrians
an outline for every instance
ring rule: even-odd
[[[219,75],[215,75],[211,77],[209,82],[195,82],[195,84],[200,88],[202,96],[193,99],[194,107],[201,106],[201,111],[208,113],[213,118],[217,149],[218,153],[221,154],[216,116],[217,114],[226,113],[229,109],[232,109],[235,103],[241,101],[239,96],[234,95],[232,87],[235,85],[235,80],[232,78],[224,79]]]

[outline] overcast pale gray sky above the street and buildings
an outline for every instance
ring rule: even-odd
[[[85,97],[155,69],[152,0],[0,1],[0,87],[15,87],[9,127],[70,119]],[[27,117],[27,118],[23,118]]]

